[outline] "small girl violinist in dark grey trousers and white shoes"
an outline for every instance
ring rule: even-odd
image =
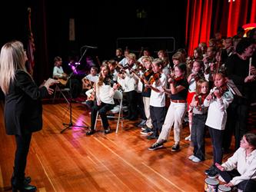
[[[193,154],[188,157],[193,162],[204,161],[205,121],[208,108],[204,106],[204,99],[208,95],[208,81],[200,79],[196,83],[196,93],[189,104],[189,111],[193,114],[191,127],[191,141],[194,145]]]

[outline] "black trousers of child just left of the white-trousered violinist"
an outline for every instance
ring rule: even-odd
[[[165,107],[150,106],[150,117],[153,125],[153,135],[158,137],[165,122]]]

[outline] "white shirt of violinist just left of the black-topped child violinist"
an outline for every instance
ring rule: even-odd
[[[162,86],[166,88],[167,86],[167,78],[165,74],[161,74],[161,78],[159,79],[161,83],[155,84],[155,82],[152,84],[154,88],[158,88],[159,90],[162,90]],[[153,89],[151,89],[151,95],[150,95],[150,101],[149,104],[153,107],[162,108],[165,107],[165,92],[160,93],[156,92]]]

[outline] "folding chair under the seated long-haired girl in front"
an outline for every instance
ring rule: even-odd
[[[108,111],[107,118],[114,118],[115,121],[118,121],[117,125],[116,125],[116,129],[115,129],[115,133],[118,133],[118,127],[119,127],[120,120],[121,120],[121,128],[123,128],[123,94],[122,94],[122,92],[119,90],[116,90],[115,94],[114,94],[114,99],[117,100],[118,104],[120,105],[120,108],[118,111],[118,116],[115,116],[114,113],[111,113],[111,111]],[[110,115],[110,114],[112,114],[112,115]],[[95,120],[95,130],[96,130],[96,124],[97,124],[98,120],[101,120],[101,119],[98,118],[98,112],[97,112],[96,120]],[[102,124],[102,122],[101,122],[101,124]]]

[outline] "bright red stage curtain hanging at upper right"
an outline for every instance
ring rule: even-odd
[[[231,37],[238,26],[256,22],[256,0],[188,0],[187,14],[186,46],[192,55],[199,42],[214,37],[214,31]]]

